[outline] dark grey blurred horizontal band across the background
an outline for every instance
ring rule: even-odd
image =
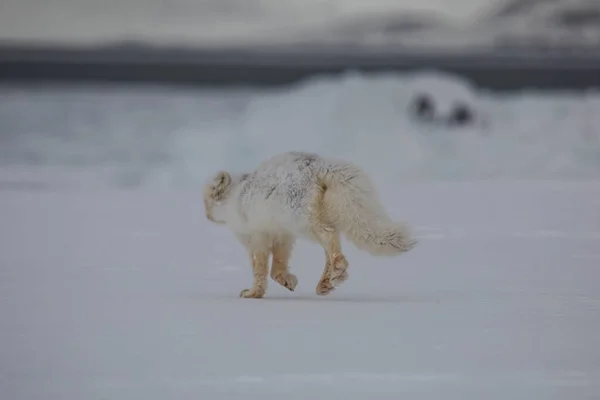
[[[348,71],[439,70],[492,90],[600,88],[600,54],[294,46],[184,49],[0,44],[0,83],[160,83],[277,86]]]

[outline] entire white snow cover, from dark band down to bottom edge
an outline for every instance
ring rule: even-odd
[[[443,116],[410,119],[426,90]],[[0,88],[0,397],[592,399],[600,101],[437,74],[277,90]],[[364,165],[419,244],[315,294],[240,299],[249,260],[201,183],[281,150]]]

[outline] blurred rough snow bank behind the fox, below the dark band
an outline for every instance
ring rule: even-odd
[[[411,115],[422,93],[438,119]],[[473,120],[443,123],[457,105]],[[288,150],[346,157],[397,182],[600,178],[599,94],[497,95],[434,73],[277,90],[4,87],[0,121],[5,185],[39,172],[72,184],[85,171],[85,182],[188,187]]]

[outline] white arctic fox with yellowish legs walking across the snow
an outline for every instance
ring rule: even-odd
[[[253,172],[220,171],[204,186],[206,218],[226,225],[244,245],[254,282],[240,297],[262,298],[271,279],[293,291],[288,261],[296,237],[325,249],[316,292],[326,295],[348,279],[340,235],[372,255],[409,251],[416,241],[383,209],[368,176],[356,165],[305,152],[286,152]]]

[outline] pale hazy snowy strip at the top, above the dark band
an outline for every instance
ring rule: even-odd
[[[598,0],[4,0],[1,40],[598,51]]]

